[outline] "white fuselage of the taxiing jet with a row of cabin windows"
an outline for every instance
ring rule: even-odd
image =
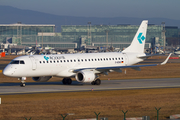
[[[9,64],[3,71],[10,77],[58,76],[74,77],[76,69],[129,66],[143,61],[133,53],[83,53],[20,56],[14,60],[24,64]],[[145,55],[144,53],[142,55]],[[96,74],[97,71],[94,71]]]

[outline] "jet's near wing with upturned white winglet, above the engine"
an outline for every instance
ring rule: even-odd
[[[166,60],[160,64],[147,64],[147,65],[130,65],[130,66],[112,66],[112,67],[97,67],[97,68],[82,68],[82,69],[76,69],[76,70],[73,70],[73,72],[79,72],[81,70],[95,70],[95,71],[100,71],[100,72],[103,72],[103,71],[109,71],[109,70],[115,70],[115,71],[121,71],[120,69],[121,68],[132,68],[132,69],[135,69],[135,70],[140,70],[140,67],[150,67],[150,66],[157,66],[157,65],[164,65],[167,63],[169,57],[171,56],[172,53],[170,53],[168,55],[168,57],[166,58]]]

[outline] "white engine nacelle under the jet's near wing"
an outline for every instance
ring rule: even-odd
[[[76,73],[76,80],[78,82],[92,82],[96,78],[93,71],[79,71]]]

